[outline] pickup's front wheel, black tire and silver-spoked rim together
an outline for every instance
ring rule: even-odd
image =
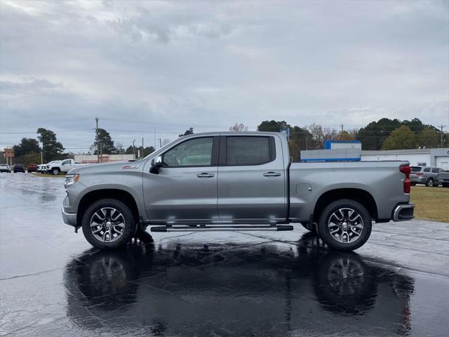
[[[133,212],[116,199],[95,201],[83,215],[83,234],[87,241],[100,249],[126,246],[135,233]]]

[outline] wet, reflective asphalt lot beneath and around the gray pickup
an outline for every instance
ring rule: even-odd
[[[449,223],[376,224],[356,253],[300,225],[100,251],[62,183],[0,174],[0,335],[448,336]]]

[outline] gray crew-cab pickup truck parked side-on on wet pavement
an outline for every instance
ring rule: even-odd
[[[293,163],[281,133],[198,133],[140,161],[67,173],[62,218],[93,246],[152,232],[293,230],[362,246],[372,221],[413,218],[407,161]]]

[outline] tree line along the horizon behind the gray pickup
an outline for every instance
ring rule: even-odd
[[[335,128],[324,127],[321,124],[307,126],[290,125],[286,121],[266,120],[257,126],[257,131],[279,132],[281,128],[288,128],[290,137],[288,145],[293,159],[299,158],[300,150],[319,150],[325,147],[326,140],[360,140],[362,150],[398,150],[413,149],[418,147],[448,147],[448,133],[441,133],[438,128],[429,124],[423,124],[420,119],[399,120],[382,118],[372,121],[363,128],[337,131]],[[229,131],[248,131],[244,124],[236,123]],[[73,158],[73,154],[64,153],[65,147],[56,138],[56,133],[46,128],[38,128],[37,139],[22,138],[20,144],[14,145],[15,162],[28,165],[39,163],[41,154],[43,162],[52,160]],[[194,128],[188,128],[181,136],[194,133]],[[39,141],[38,141],[39,140]],[[42,147],[39,145],[42,144]],[[161,145],[168,143],[163,140]],[[114,143],[111,135],[104,128],[98,128],[98,137],[91,145],[88,154],[98,154],[98,144],[102,154],[138,154],[147,156],[154,152],[154,147],[142,147],[130,145],[123,147],[120,143]]]

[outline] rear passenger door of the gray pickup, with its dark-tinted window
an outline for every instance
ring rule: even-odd
[[[217,182],[220,220],[229,223],[286,220],[286,164],[282,151],[275,136],[220,138]]]

